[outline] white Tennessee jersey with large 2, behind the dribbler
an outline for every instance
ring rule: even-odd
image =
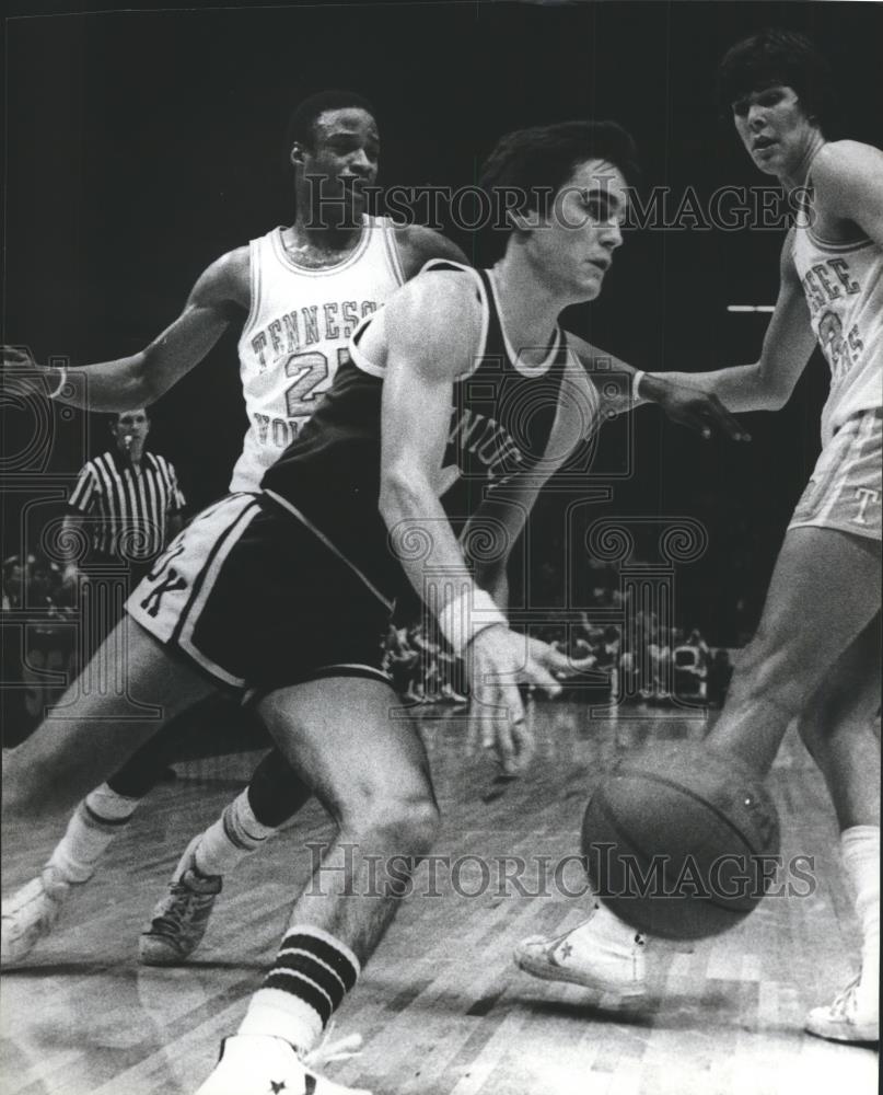
[[[299,266],[281,228],[249,247],[252,307],[239,343],[249,426],[231,491],[258,489],[330,387],[357,324],[405,280],[386,217],[365,216],[356,249],[326,269]]]

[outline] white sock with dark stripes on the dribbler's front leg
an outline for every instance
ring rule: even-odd
[[[283,1038],[309,1052],[360,971],[340,940],[312,924],[293,924],[239,1033]]]

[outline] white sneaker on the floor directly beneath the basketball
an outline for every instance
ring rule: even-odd
[[[647,991],[643,935],[626,925],[612,931],[612,914],[596,910],[589,920],[564,935],[532,935],[514,952],[515,965],[544,981],[581,984],[597,993],[620,999],[642,996]]]

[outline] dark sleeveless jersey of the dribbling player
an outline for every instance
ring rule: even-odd
[[[427,268],[474,278],[483,308],[485,334],[476,348],[476,366],[454,383],[443,465],[458,471],[442,498],[456,526],[489,492],[542,461],[558,407],[567,345],[556,328],[541,366],[519,365],[503,333],[490,273],[442,261]],[[404,576],[377,509],[383,370],[359,351],[364,330],[353,337],[355,360],[338,369],[313,417],[265,474],[262,488],[297,512],[375,592],[392,601]]]

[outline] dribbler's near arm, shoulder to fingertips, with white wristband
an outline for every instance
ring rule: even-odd
[[[472,283],[460,275],[418,277],[390,300],[383,322],[380,511],[408,579],[466,660],[483,738],[495,741],[503,770],[514,773],[532,751],[518,682],[553,692],[560,685],[557,664],[548,665],[556,652],[510,631],[476,585],[439,500],[456,474],[443,466],[454,380],[472,367],[480,339]],[[430,574],[438,580],[428,585]]]

